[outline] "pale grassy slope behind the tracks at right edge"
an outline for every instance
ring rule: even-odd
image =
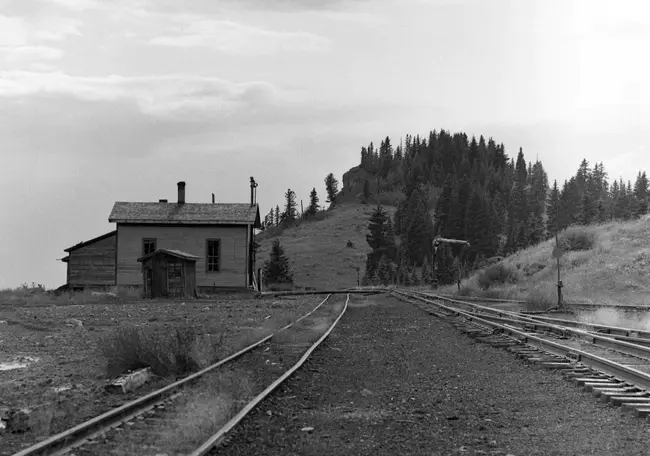
[[[567,301],[600,304],[650,304],[650,218],[625,223],[569,228],[565,235],[590,238],[588,250],[570,251],[560,260],[563,295]],[[560,238],[562,238],[562,234]],[[462,294],[491,295],[554,303],[557,262],[555,241],[520,251],[501,264],[512,282],[479,286],[481,272],[464,281]],[[456,291],[449,287],[445,291]]]

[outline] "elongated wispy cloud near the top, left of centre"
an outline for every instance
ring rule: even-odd
[[[304,32],[278,32],[250,25],[199,17],[180,17],[170,32],[148,41],[151,45],[197,47],[236,54],[268,54],[279,51],[322,51],[329,40]]]

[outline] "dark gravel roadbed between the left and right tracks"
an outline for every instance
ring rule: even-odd
[[[415,306],[352,296],[220,455],[647,455],[650,423]]]

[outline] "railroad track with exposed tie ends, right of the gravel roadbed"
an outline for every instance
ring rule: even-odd
[[[650,416],[650,347],[646,345],[456,299],[404,290],[393,293],[481,342],[561,371],[602,401],[640,417]]]

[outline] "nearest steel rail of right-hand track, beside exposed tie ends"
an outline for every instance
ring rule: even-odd
[[[523,342],[525,344],[535,346],[541,350],[547,351],[549,353],[553,353],[558,356],[562,357],[567,357],[567,358],[572,358],[572,359],[577,359],[580,363],[598,369],[602,372],[605,372],[606,374],[609,374],[613,377],[619,378],[623,381],[629,382],[631,384],[634,384],[642,389],[650,389],[650,374],[646,374],[644,372],[641,372],[639,370],[636,370],[631,367],[627,367],[624,365],[621,365],[619,363],[616,363],[614,361],[610,361],[608,359],[602,358],[600,356],[587,353],[582,350],[575,349],[573,347],[567,347],[565,345],[562,345],[557,342],[553,342],[550,340],[543,339],[541,337],[537,337],[531,334],[528,334],[526,332],[520,331],[518,329],[512,328],[507,325],[502,325],[499,323],[495,323],[489,320],[486,320],[481,317],[477,317],[474,315],[471,315],[465,311],[459,310],[459,309],[454,309],[452,307],[446,306],[444,304],[441,304],[439,302],[433,302],[430,299],[423,298],[421,296],[418,296],[416,294],[409,294],[405,293],[403,291],[395,290],[394,293],[400,294],[402,296],[408,297],[408,298],[415,298],[419,299],[420,301],[424,301],[428,304],[437,306],[439,308],[442,308],[444,310],[447,310],[451,313],[454,313],[456,315],[459,315],[467,320],[473,321],[475,323],[478,323],[480,326],[492,328],[492,329],[498,329],[499,332],[502,334],[508,335],[516,340],[519,340],[520,342]]]

